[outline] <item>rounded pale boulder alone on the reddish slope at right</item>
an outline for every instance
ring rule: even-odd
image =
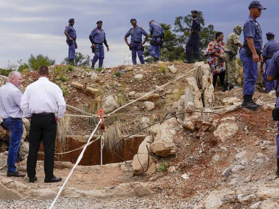
[[[213,132],[216,138],[221,139],[221,142],[231,139],[238,132],[238,125],[236,123],[221,123]]]

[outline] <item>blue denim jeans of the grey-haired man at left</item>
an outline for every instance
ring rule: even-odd
[[[22,119],[5,118],[3,119],[4,126],[10,131],[10,148],[8,151],[8,171],[7,173],[15,173],[16,160],[20,158],[20,142],[23,134]]]

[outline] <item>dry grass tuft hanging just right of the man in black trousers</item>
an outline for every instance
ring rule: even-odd
[[[58,140],[59,147],[61,147],[62,151],[65,151],[68,146],[66,135],[69,130],[69,123],[70,117],[63,116],[57,124],[56,139]]]

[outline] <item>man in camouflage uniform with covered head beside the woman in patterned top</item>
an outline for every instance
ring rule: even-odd
[[[240,25],[236,25],[233,28],[233,33],[229,34],[226,45],[225,53],[223,54],[223,59],[226,65],[225,82],[222,87],[222,92],[229,91],[233,89],[235,83],[235,73],[236,73],[236,55],[238,53],[238,46],[242,48],[242,44],[239,41],[239,36],[243,28]]]

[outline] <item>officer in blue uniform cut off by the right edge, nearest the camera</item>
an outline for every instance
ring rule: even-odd
[[[267,74],[267,79],[268,81],[272,82],[273,80],[277,80],[277,85],[276,85],[276,105],[275,109],[272,110],[272,118],[274,121],[277,121],[277,136],[276,136],[276,147],[277,147],[277,152],[276,152],[276,158],[277,158],[277,171],[276,175],[279,177],[279,51],[275,52],[274,55],[272,56],[272,59],[270,60],[268,64],[268,68],[266,68],[266,74]]]

